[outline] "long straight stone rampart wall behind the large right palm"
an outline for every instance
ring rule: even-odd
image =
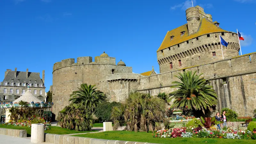
[[[173,92],[173,81],[178,81],[175,75],[183,71],[203,73],[217,92],[219,104],[217,109],[232,108],[242,116],[252,116],[256,108],[256,52],[210,62],[179,70],[173,70],[138,79],[136,91],[156,95],[158,92]],[[160,86],[161,84],[161,86]]]

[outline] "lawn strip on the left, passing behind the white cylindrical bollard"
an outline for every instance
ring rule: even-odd
[[[49,126],[50,130],[45,130],[45,133],[52,133],[52,134],[71,134],[71,133],[85,133],[85,132],[98,132],[96,130],[93,131],[75,131],[75,130],[69,130],[64,129],[59,126]],[[14,126],[14,125],[0,125],[0,128],[7,128],[7,129],[18,129],[18,130],[26,130],[28,137],[31,136],[31,128],[27,126]]]

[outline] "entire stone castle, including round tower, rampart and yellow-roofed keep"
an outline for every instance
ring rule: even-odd
[[[138,91],[156,95],[172,92],[175,77],[183,71],[203,73],[217,92],[217,109],[231,108],[239,116],[253,116],[256,108],[256,53],[239,56],[237,34],[223,30],[212,16],[205,14],[200,6],[188,8],[188,23],[168,31],[157,50],[160,74],[141,75],[132,73],[123,61],[105,52],[95,57],[79,57],[57,62],[53,66],[52,101],[53,113],[69,104],[70,94],[80,84],[95,84],[97,90],[105,92],[110,101],[124,101],[130,92]],[[228,42],[222,46],[219,35]],[[224,59],[223,59],[224,57]]]

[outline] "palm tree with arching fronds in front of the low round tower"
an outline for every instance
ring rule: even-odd
[[[74,91],[70,95],[69,101],[74,104],[84,105],[91,112],[94,112],[99,103],[107,101],[107,96],[103,92],[96,91],[95,85],[81,84],[78,91]]]

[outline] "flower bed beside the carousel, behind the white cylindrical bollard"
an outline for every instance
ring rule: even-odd
[[[9,121],[8,123],[5,123],[5,125],[14,125],[14,126],[28,126],[31,127],[31,124],[35,124],[33,123],[34,121],[31,120],[21,120],[20,122],[14,122],[14,121]],[[42,120],[40,123],[44,124],[44,130],[49,130],[49,126],[51,126],[51,122],[45,122],[44,120]],[[4,124],[3,124],[4,125]]]

